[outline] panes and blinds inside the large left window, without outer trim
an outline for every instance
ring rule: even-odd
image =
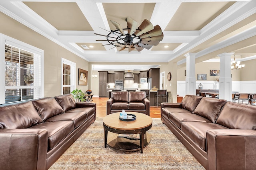
[[[41,56],[5,44],[5,103],[42,97]]]

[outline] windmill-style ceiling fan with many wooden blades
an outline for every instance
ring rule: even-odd
[[[130,17],[126,17],[125,20],[127,22],[127,28],[124,29],[116,21],[110,20],[116,27],[116,30],[108,31],[104,29],[109,32],[108,35],[94,33],[106,37],[105,40],[99,39],[96,41],[108,41],[109,44],[105,45],[114,45],[113,48],[121,47],[119,51],[128,48],[128,52],[130,52],[134,49],[137,51],[142,51],[144,48],[150,49],[153,45],[158,45],[164,38],[160,26],[153,26],[152,23],[146,19],[140,25]],[[127,33],[125,33],[124,30],[127,30]]]

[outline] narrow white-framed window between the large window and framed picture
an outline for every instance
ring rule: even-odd
[[[62,63],[62,94],[70,94],[76,86],[76,63],[68,61],[66,59],[61,59]]]

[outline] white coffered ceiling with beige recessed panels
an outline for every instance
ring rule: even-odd
[[[198,61],[216,58],[217,51],[256,58],[256,0],[12,0],[1,1],[0,10],[92,62],[95,70],[102,67],[97,68],[97,62],[122,68],[126,63],[140,68],[169,61],[182,64],[186,53],[196,53]],[[130,53],[96,41],[106,37],[94,33],[116,30],[110,20],[126,28],[126,17],[159,25],[163,40]]]

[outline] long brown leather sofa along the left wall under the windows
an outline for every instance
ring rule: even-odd
[[[50,168],[95,119],[71,94],[0,105],[0,169]]]

